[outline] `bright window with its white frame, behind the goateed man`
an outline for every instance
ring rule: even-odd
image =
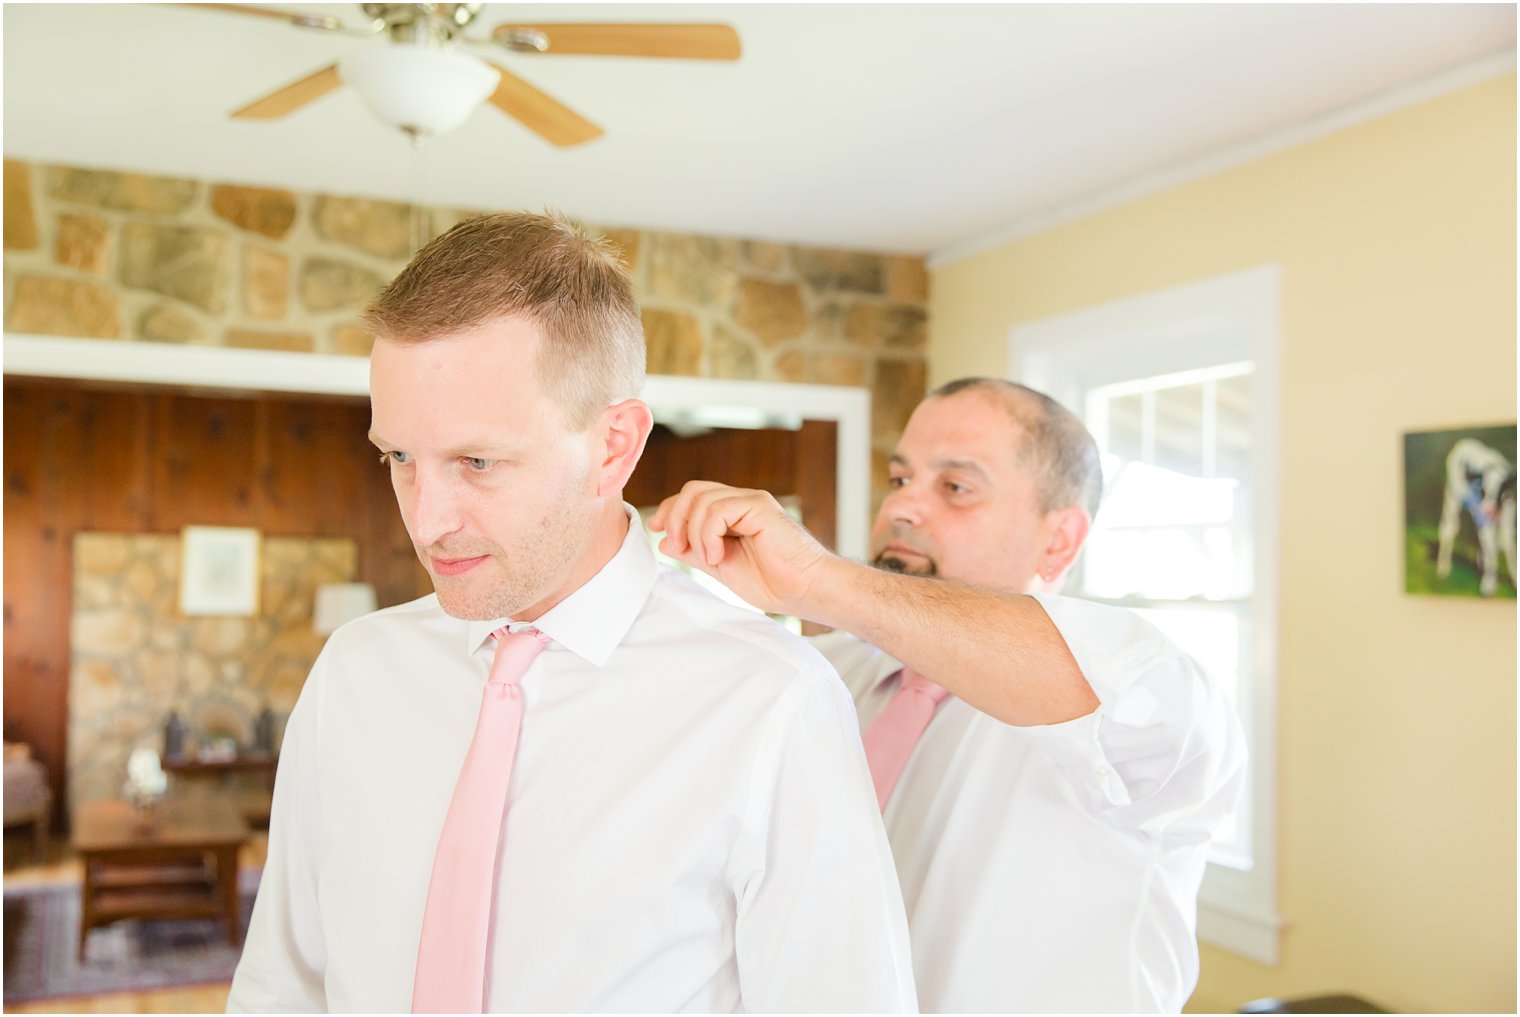
[[[1011,377],[1082,417],[1104,502],[1066,591],[1126,607],[1240,714],[1251,765],[1199,894],[1199,938],[1277,961],[1277,269],[1018,327]]]

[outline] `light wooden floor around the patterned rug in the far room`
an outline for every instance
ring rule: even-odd
[[[239,867],[261,867],[268,853],[268,835],[255,832],[239,856]],[[15,859],[15,862],[12,862]],[[27,839],[5,839],[5,886],[36,886],[41,883],[82,882],[79,859],[64,841],[53,841],[46,857],[33,857]],[[109,996],[76,996],[15,1003],[8,1014],[225,1014],[228,984],[163,988],[144,993],[112,993]]]

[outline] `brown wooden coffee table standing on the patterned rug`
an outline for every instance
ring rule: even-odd
[[[74,809],[84,862],[79,958],[91,929],[123,918],[222,918],[239,941],[237,850],[248,824],[216,797],[167,798],[149,821],[125,801]]]

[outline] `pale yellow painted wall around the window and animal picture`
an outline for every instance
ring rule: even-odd
[[[1281,962],[1190,1009],[1350,991],[1515,1012],[1515,604],[1403,590],[1401,435],[1515,420],[1515,78],[938,268],[930,383],[1009,328],[1281,266]]]

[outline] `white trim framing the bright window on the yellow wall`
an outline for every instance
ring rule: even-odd
[[[1011,379],[1079,409],[1099,385],[1204,363],[1252,360],[1256,591],[1248,737],[1249,870],[1210,863],[1198,897],[1198,936],[1277,964],[1277,546],[1278,266],[1262,266],[1018,325],[1008,337]]]

